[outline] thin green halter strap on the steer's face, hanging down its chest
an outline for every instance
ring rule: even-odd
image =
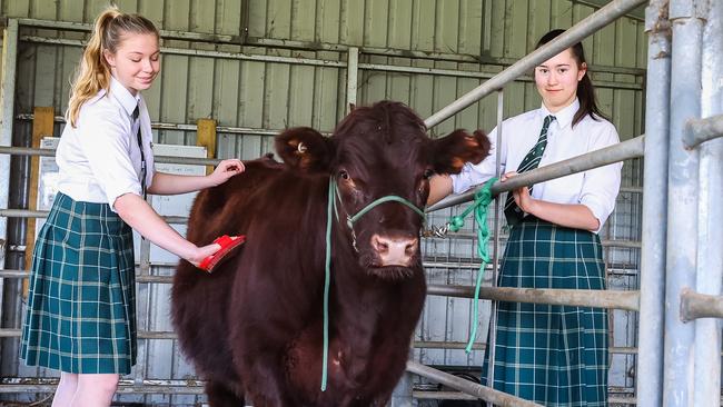
[[[329,357],[329,288],[331,286],[331,215],[336,215],[336,219],[339,220],[339,212],[336,207],[336,199],[339,199],[339,202],[341,202],[341,196],[339,195],[339,190],[336,186],[336,182],[334,181],[334,177],[329,177],[329,193],[328,193],[328,202],[327,202],[327,209],[326,209],[326,256],[325,256],[325,267],[324,267],[324,349],[323,349],[323,365],[321,365],[321,391],[326,391],[326,383],[327,383],[327,364],[328,364],[328,357]],[[419,214],[423,220],[426,220],[426,215],[424,214],[424,210],[417,208],[414,204],[409,202],[408,200],[398,197],[396,195],[387,195],[386,197],[382,197],[379,199],[376,199],[372,204],[367,205],[366,207],[361,208],[356,215],[354,216],[348,216],[346,217],[346,225],[349,227],[349,230],[351,230],[351,237],[354,238],[354,248],[356,249],[356,235],[354,234],[354,224],[359,220],[364,215],[366,215],[368,211],[374,209],[376,206],[382,205],[384,202],[389,202],[389,201],[395,201],[399,204],[404,204],[405,206],[409,207],[413,209],[415,212]]]

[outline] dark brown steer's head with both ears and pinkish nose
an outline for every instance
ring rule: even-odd
[[[277,137],[276,149],[297,170],[330,177],[337,188],[337,230],[358,252],[359,265],[368,274],[399,278],[419,265],[423,216],[414,208],[424,210],[429,178],[479,162],[489,140],[464,130],[429,139],[412,109],[380,101],[353,110],[329,138],[310,128],[289,129]],[[384,197],[402,199],[369,206]]]

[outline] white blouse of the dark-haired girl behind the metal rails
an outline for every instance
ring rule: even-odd
[[[590,151],[620,142],[615,127],[605,119],[593,120],[586,115],[573,128],[573,117],[580,109],[575,101],[558,111],[547,131],[547,148],[539,167],[566,160]],[[516,171],[527,152],[537,142],[543,120],[552,115],[544,105],[503,121],[501,147],[501,173]],[[458,175],[452,176],[455,193],[464,192],[495,176],[497,128],[489,133],[492,150],[489,157],[478,165],[467,163]],[[615,208],[620,190],[622,162],[573,173],[563,178],[536,183],[532,196],[556,204],[582,204],[590,208],[600,227]],[[600,229],[597,230],[600,231]]]

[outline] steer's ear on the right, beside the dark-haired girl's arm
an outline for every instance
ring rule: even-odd
[[[465,130],[432,141],[432,165],[437,173],[459,173],[465,162],[479,163],[489,155],[489,139],[482,130]]]

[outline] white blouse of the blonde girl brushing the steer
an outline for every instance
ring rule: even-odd
[[[139,120],[132,119],[136,106]],[[125,193],[141,196],[140,126],[146,158],[146,186],[153,179],[152,133],[148,108],[111,77],[110,91],[101,89],[80,108],[76,128],[66,125],[56,162],[60,170],[58,190],[78,201],[109,204]],[[115,210],[115,209],[113,209]]]

